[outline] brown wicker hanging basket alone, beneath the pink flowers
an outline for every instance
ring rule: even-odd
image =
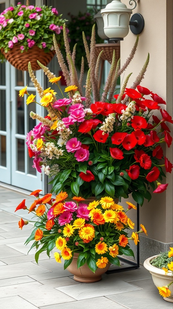
[[[31,62],[32,70],[40,70],[40,66],[37,63],[39,60],[44,66],[50,62],[54,57],[55,51],[44,52],[44,49],[40,49],[38,46],[34,45],[27,52],[21,53],[20,45],[14,44],[14,47],[5,53],[4,49],[1,49],[1,53],[4,55],[6,60],[10,62],[18,70],[28,71],[28,62]]]

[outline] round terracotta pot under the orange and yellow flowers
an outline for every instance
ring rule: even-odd
[[[68,271],[74,275],[75,281],[86,283],[100,281],[103,273],[106,273],[111,265],[111,263],[108,263],[105,268],[98,268],[95,273],[93,273],[87,264],[77,268],[78,255],[78,253],[74,253],[73,260],[67,267]]]

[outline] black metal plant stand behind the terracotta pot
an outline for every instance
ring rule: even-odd
[[[137,203],[137,231],[139,231],[139,204]],[[118,273],[118,272],[121,272],[121,271],[124,271],[124,270],[132,270],[132,269],[137,269],[139,268],[139,242],[137,244],[137,262],[133,262],[131,260],[127,260],[121,256],[119,256],[119,260],[122,261],[122,262],[125,262],[126,264],[129,264],[129,266],[127,267],[119,267],[117,268],[117,266],[115,266],[116,268],[115,269],[108,269],[107,270],[107,274],[110,274],[110,273]],[[114,265],[112,265],[114,266]]]

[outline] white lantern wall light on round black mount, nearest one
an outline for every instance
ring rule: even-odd
[[[129,32],[129,25],[131,32],[140,34],[144,28],[143,16],[139,13],[132,14],[132,10],[136,7],[137,0],[130,0],[129,4],[133,5],[131,9],[121,2],[121,0],[113,0],[101,10],[104,22],[104,33],[110,41],[117,43],[124,39]]]

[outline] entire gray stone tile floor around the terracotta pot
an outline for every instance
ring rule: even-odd
[[[26,198],[28,206],[33,197],[0,185],[0,309],[167,309],[171,303],[163,300],[141,265],[139,269],[104,274],[95,283],[80,283],[42,253],[38,265],[34,249],[24,242],[30,235],[31,224],[18,228],[18,221],[31,219],[25,210],[14,213]],[[59,306],[58,306],[59,305]]]

